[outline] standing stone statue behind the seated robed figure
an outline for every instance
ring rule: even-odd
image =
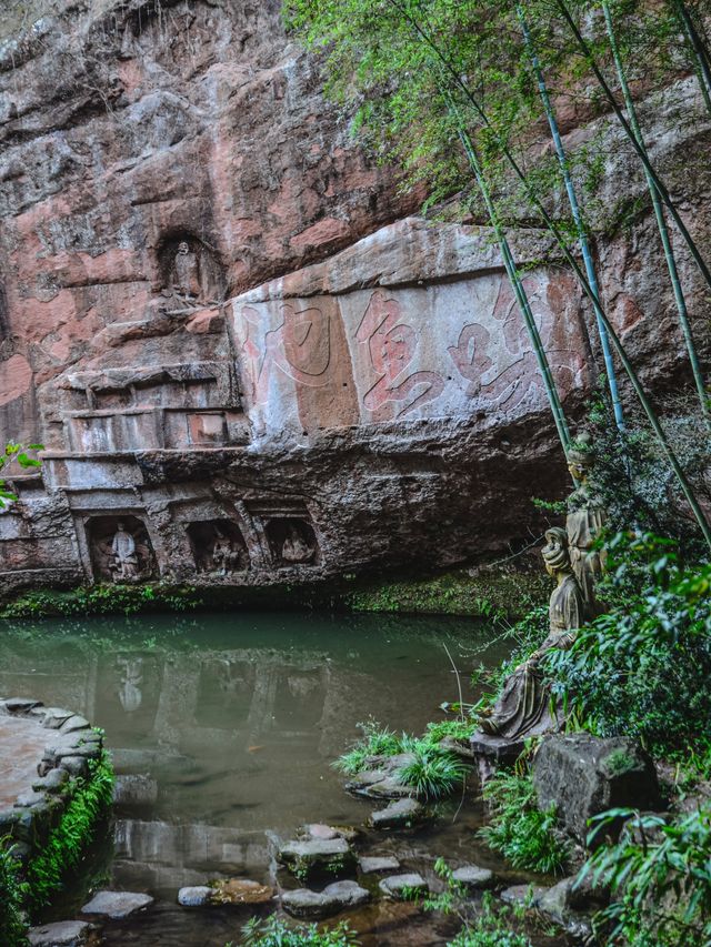
[[[594,618],[600,607],[595,601],[595,583],[603,572],[600,550],[593,548],[595,538],[604,526],[607,513],[591,478],[594,451],[588,435],[578,439],[568,450],[568,470],[575,490],[568,498],[568,543],[570,562],[585,605],[585,618]]]

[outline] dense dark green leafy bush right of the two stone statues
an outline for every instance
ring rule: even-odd
[[[637,736],[658,756],[711,744],[711,565],[674,543],[619,534],[609,544],[609,611],[548,658],[553,692],[601,736]]]

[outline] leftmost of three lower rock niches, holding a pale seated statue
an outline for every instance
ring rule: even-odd
[[[138,516],[92,516],[86,531],[97,582],[147,582],[156,577],[153,546]]]

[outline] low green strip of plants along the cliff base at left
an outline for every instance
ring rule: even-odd
[[[201,604],[198,591],[190,585],[92,585],[68,593],[28,592],[1,608],[0,618],[186,612]]]

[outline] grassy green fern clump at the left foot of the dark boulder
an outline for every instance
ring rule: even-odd
[[[535,789],[529,775],[500,772],[484,784],[489,803],[489,824],[480,829],[487,844],[514,868],[561,874],[569,846],[557,828],[555,807],[538,808]]]

